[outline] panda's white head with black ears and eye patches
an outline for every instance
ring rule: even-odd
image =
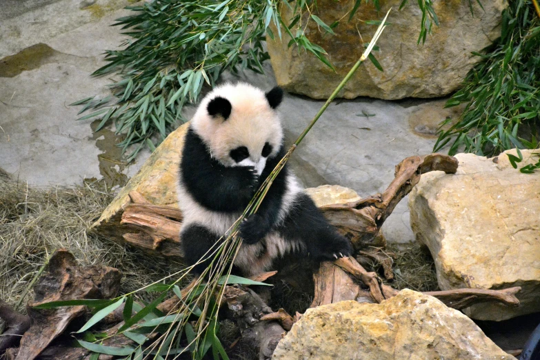
[[[282,97],[278,87],[265,93],[246,83],[219,86],[201,101],[192,129],[212,158],[224,166],[254,166],[260,175],[283,141],[276,111]]]

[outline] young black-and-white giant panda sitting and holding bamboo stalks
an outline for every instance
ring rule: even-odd
[[[286,154],[277,113],[282,98],[279,87],[265,93],[247,83],[228,83],[201,100],[183,145],[177,189],[181,246],[189,265],[228,232]],[[319,262],[352,252],[350,241],[328,223],[287,166],[259,210],[241,223],[239,236],[234,266],[246,276],[269,270],[274,259],[291,252]],[[209,262],[193,272],[201,274]]]

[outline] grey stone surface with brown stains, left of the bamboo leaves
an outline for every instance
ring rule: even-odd
[[[30,185],[102,177],[123,185],[148,157],[143,153],[130,170],[114,146],[120,139],[114,131],[93,133],[97,123],[75,121],[81,107],[68,106],[110,94],[110,79],[90,74],[105,64],[104,50],[126,39],[110,24],[129,13],[114,10],[126,0],[96,1],[99,16],[79,3],[10,1],[2,7],[11,10],[0,11],[0,57],[9,55],[0,59],[0,167]]]

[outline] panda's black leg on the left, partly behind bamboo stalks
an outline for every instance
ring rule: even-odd
[[[219,240],[219,237],[203,226],[189,225],[182,230],[180,238],[184,259],[190,266],[198,263],[203,257],[209,257],[209,259],[197,264],[192,270],[193,274],[202,274],[210,266],[212,261],[210,248]]]

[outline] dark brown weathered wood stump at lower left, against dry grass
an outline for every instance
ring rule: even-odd
[[[73,299],[103,299],[114,296],[120,286],[117,269],[92,266],[80,268],[67,250],[57,250],[34,287],[35,299],[28,303],[32,325],[21,338],[17,360],[32,360],[66,329],[70,321],[86,312],[85,306],[54,309],[33,308],[41,303]]]

